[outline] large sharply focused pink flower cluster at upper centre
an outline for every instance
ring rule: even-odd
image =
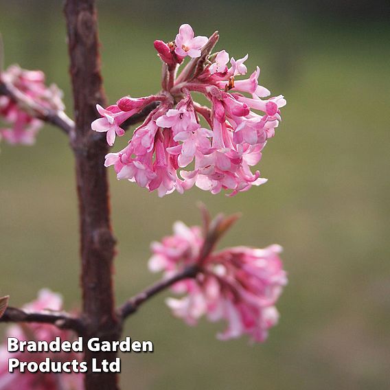
[[[157,190],[159,196],[174,190],[183,193],[193,185],[212,194],[231,190],[234,195],[266,182],[251,167],[275,134],[279,108],[286,100],[282,95],[263,99],[270,92],[258,84],[258,67],[249,78],[236,80],[246,74],[248,55],[235,60],[225,50],[211,54],[217,41],[216,33],[208,39],[194,37],[190,25],[181,25],[174,42],[154,42],[163,61],[163,89],[158,95],[126,96],[107,108],[98,106],[102,118],[92,129],[106,132],[113,145],[116,135],[124,135],[126,119],[159,102],[135,129],[128,146],[107,154],[105,165],[114,166],[118,179]],[[178,76],[186,56],[192,60]],[[211,108],[195,102],[192,92],[205,95]]]

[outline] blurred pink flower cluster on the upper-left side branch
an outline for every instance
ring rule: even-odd
[[[25,98],[45,108],[56,111],[65,108],[61,100],[62,91],[55,84],[46,87],[42,71],[28,71],[12,65],[0,73],[0,82],[12,85]],[[43,121],[19,107],[8,95],[0,95],[0,120],[6,124],[3,128],[0,126],[0,140],[4,139],[9,144],[34,144],[36,134],[43,126]]]

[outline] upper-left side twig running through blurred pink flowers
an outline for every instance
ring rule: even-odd
[[[57,126],[66,134],[70,134],[74,129],[74,122],[64,111],[56,111],[36,103],[12,84],[0,82],[0,95],[7,95],[33,117],[54,124],[54,126]]]

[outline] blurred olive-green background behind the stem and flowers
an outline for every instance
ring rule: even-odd
[[[193,189],[158,198],[110,170],[119,240],[117,301],[157,279],[149,243],[172,222],[242,211],[221,246],[284,246],[289,275],[279,325],[264,345],[220,342],[223,325],[189,328],[163,295],[125,335],[154,354],[122,356],[123,389],[388,389],[390,384],[388,1],[100,1],[102,71],[110,102],[159,90],[153,41],[181,23],[220,31],[218,49],[260,65],[288,104],[260,163],[266,185],[228,198]],[[5,65],[43,69],[71,115],[61,1],[0,0]],[[119,150],[119,146],[115,150]],[[78,216],[67,139],[46,126],[36,146],[1,145],[0,295],[12,306],[43,286],[80,299]],[[167,296],[168,294],[165,294]],[[1,325],[1,330],[5,326]]]

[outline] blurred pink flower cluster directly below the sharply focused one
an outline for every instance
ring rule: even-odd
[[[187,266],[200,268],[194,279],[174,284],[174,291],[185,297],[168,298],[168,306],[189,325],[195,325],[203,315],[210,321],[225,319],[227,329],[218,339],[248,334],[252,341],[264,341],[268,329],[277,323],[275,302],[287,283],[279,258],[282,248],[236,246],[200,260],[203,242],[199,227],[176,222],[173,236],[152,244],[151,271],[165,271],[170,277]]]

